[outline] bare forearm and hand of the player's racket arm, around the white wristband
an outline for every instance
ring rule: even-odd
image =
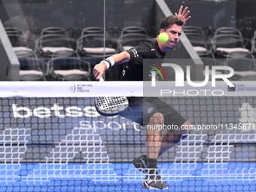
[[[127,53],[126,51],[123,51],[121,53],[117,53],[110,56],[110,58],[112,62],[114,61],[113,65],[120,65],[120,64],[123,64],[124,62],[130,61],[130,54]],[[99,80],[105,74],[106,70],[107,70],[107,65],[105,64],[105,62],[103,61],[99,62],[99,64],[97,64],[93,69],[93,75],[97,80]]]

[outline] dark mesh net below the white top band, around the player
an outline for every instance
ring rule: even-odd
[[[254,191],[256,97],[160,98],[190,121],[157,161],[172,191]],[[142,191],[147,126],[94,97],[9,97],[0,110],[1,191]],[[163,125],[161,135],[175,129]]]

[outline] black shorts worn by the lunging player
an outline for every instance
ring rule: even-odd
[[[164,124],[180,127],[186,122],[172,106],[157,97],[130,97],[129,107],[119,113],[120,116],[133,120],[142,126],[148,124],[153,114],[160,112],[164,117]]]

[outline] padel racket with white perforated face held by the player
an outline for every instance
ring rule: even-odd
[[[104,81],[103,78],[100,81]],[[128,108],[129,101],[126,96],[102,96],[94,100],[96,110],[105,116],[114,116]]]

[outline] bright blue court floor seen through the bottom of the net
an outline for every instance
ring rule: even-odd
[[[256,191],[256,163],[159,163],[164,191]],[[0,191],[148,191],[132,163],[0,164]],[[154,191],[154,190],[150,190]],[[160,190],[156,190],[160,191]]]

